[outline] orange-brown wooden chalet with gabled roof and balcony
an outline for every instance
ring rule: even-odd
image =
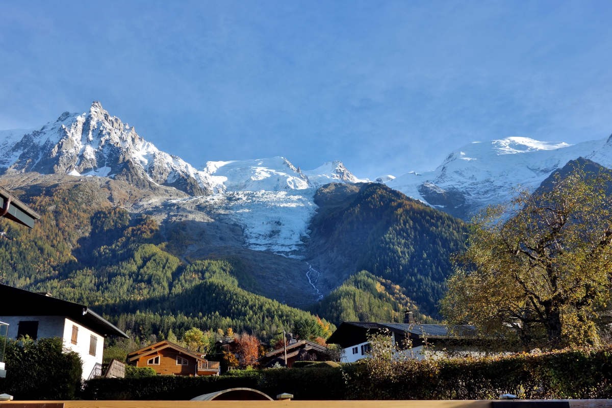
[[[189,351],[178,344],[163,340],[127,355],[127,363],[136,367],[151,367],[157,374],[175,376],[218,376],[219,362],[209,362],[204,355]]]

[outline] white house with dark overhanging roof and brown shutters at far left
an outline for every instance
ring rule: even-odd
[[[128,336],[87,306],[0,284],[0,321],[8,337],[59,337],[83,362],[83,379],[100,375],[104,338]]]

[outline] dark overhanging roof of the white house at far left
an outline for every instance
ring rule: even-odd
[[[0,299],[0,316],[64,316],[102,336],[129,337],[85,305],[5,284],[0,284]]]

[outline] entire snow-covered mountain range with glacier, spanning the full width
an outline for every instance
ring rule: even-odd
[[[482,207],[507,202],[516,188],[535,190],[578,157],[612,168],[612,136],[575,145],[521,137],[474,142],[450,153],[434,171],[386,175],[376,182],[468,219]],[[38,130],[0,131],[0,174],[28,171],[111,177],[141,188],[175,187],[199,197],[202,205],[216,202],[214,210],[233,217],[253,247],[288,251],[308,234],[316,188],[369,181],[357,179],[340,161],[302,170],[285,157],[209,161],[196,169],[157,149],[99,102],[85,113],[63,113]],[[290,231],[285,234],[283,228]]]

